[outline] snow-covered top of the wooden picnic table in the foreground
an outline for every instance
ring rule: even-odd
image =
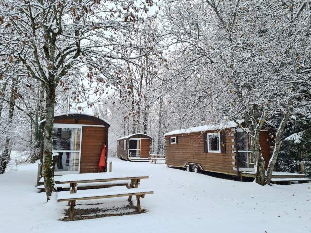
[[[59,183],[86,183],[118,180],[146,179],[148,175],[130,172],[101,172],[62,175]]]

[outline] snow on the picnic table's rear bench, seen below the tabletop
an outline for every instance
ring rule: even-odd
[[[114,186],[126,186],[131,182],[131,180],[121,180],[121,181],[106,181],[106,182],[96,182],[96,183],[77,183],[78,189],[92,189],[92,188],[105,188],[105,187],[114,187]],[[57,183],[57,188],[63,190],[70,190],[69,183]],[[37,189],[44,189],[44,185],[37,186]]]

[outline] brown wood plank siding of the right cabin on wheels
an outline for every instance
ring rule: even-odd
[[[208,131],[207,133],[217,133]],[[204,152],[203,132],[184,133],[165,137],[166,164],[168,166],[184,167],[185,163],[198,163],[206,171],[238,175],[236,167],[236,139],[235,132],[231,129],[225,132],[225,150],[222,153]],[[264,156],[269,157],[268,132],[260,133],[260,145],[263,147]],[[170,144],[171,137],[178,137],[176,144]],[[267,147],[268,146],[268,147]]]

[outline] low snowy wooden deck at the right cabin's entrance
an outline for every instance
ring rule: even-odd
[[[245,172],[242,172],[240,176],[241,176],[241,181],[243,180],[243,177],[255,178],[255,171],[248,171],[248,172],[245,171]],[[311,181],[311,179],[306,178],[306,175],[303,173],[274,171],[271,177],[271,183],[277,183],[277,184],[291,184],[292,182],[309,183],[309,181]]]

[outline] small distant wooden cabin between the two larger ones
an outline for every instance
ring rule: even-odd
[[[117,139],[117,156],[129,161],[148,161],[152,137],[136,133]]]

